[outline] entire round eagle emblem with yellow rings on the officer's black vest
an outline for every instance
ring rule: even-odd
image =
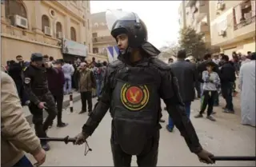
[[[124,84],[121,89],[122,104],[132,111],[143,109],[149,101],[149,90],[146,85]]]

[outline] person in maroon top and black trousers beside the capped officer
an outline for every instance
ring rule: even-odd
[[[64,98],[63,87],[65,84],[65,78],[62,72],[61,62],[54,62],[54,68],[52,65],[53,64],[51,62],[46,63],[46,69],[52,68],[52,70],[47,70],[46,74],[50,93],[53,95],[54,101],[57,104],[57,127],[62,128],[68,125],[67,123],[62,122],[62,105]],[[53,123],[54,122],[52,121],[50,127]]]

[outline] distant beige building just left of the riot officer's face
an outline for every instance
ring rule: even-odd
[[[106,12],[91,14],[93,54],[107,58],[108,46],[116,46],[115,39],[111,36],[106,26]]]

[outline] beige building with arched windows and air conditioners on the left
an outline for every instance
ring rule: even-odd
[[[29,61],[32,53],[73,59],[92,51],[90,1],[5,0],[1,23],[2,65],[18,54]]]

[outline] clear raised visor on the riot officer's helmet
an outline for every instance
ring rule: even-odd
[[[122,10],[106,10],[106,26],[111,31],[113,30],[114,23],[117,21],[134,21],[139,22],[138,15],[133,12]]]

